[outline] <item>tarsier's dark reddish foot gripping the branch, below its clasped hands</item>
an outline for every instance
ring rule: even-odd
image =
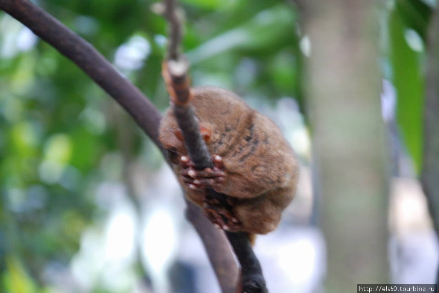
[[[230,232],[239,232],[241,230],[241,222],[233,214],[231,206],[225,207],[216,199],[204,202],[203,215],[217,228]]]

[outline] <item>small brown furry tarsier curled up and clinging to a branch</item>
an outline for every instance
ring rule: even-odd
[[[296,192],[298,163],[279,128],[236,94],[216,87],[191,88],[191,103],[214,167],[196,170],[187,156],[172,108],[160,124],[160,142],[189,200],[217,227],[266,234],[279,224]],[[206,198],[211,187],[228,207]]]

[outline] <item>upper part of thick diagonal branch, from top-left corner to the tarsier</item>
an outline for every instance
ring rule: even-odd
[[[122,77],[88,42],[56,18],[27,0],[0,0],[0,8],[31,29],[60,53],[76,63],[105,92],[134,118],[142,130],[160,146],[161,114],[145,96]]]

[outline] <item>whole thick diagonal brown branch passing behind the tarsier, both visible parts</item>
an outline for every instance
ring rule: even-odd
[[[0,9],[76,63],[134,118],[139,127],[163,151],[158,140],[161,120],[159,110],[139,89],[121,76],[92,45],[28,0],[0,0]],[[231,284],[234,283],[234,279],[230,272],[236,271],[236,265],[224,235],[216,231],[212,225],[206,227],[206,220],[202,218],[200,209],[190,202],[187,214],[191,215],[189,220],[203,241],[222,291],[233,292]]]

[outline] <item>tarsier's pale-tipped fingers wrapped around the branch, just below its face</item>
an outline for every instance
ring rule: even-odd
[[[180,157],[180,177],[183,183],[191,189],[204,190],[207,187],[220,187],[225,182],[224,163],[218,155],[212,156],[213,168],[196,170],[194,163],[187,156]]]

